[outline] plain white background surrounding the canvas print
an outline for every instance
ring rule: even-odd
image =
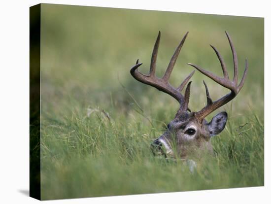
[[[268,53],[270,6],[267,0],[43,0],[43,3],[91,5],[148,10],[265,17],[265,104],[271,104]],[[22,191],[29,189],[29,7],[37,0],[0,3],[0,203],[36,203]],[[269,33],[270,34],[270,33]],[[253,93],[252,93],[253,94]],[[192,191],[50,201],[54,203],[268,203],[270,176],[270,108],[265,106],[265,187]],[[47,202],[46,202],[47,203]]]

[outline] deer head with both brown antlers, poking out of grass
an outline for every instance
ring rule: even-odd
[[[213,73],[200,68],[197,65],[193,65],[188,63],[188,65],[198,69],[201,73],[206,75],[207,77],[214,80],[216,83],[228,88],[231,92],[222,98],[218,99],[217,101],[212,101],[209,95],[209,91],[207,88],[206,83],[203,81],[206,90],[206,98],[207,103],[206,106],[203,107],[200,111],[190,111],[188,108],[189,103],[189,95],[190,95],[190,86],[191,81],[188,83],[192,75],[194,74],[195,70],[192,71],[180,84],[179,87],[174,88],[169,84],[169,76],[172,72],[172,69],[175,65],[179,52],[184,44],[184,41],[188,35],[188,32],[184,35],[183,39],[181,40],[180,44],[176,48],[170,62],[168,68],[162,78],[158,78],[155,75],[156,69],[156,59],[158,53],[158,47],[160,42],[161,33],[159,32],[158,37],[156,39],[152,57],[151,57],[151,65],[150,65],[150,72],[149,74],[145,75],[140,73],[137,68],[142,65],[139,63],[138,60],[136,61],[135,66],[131,68],[132,76],[147,85],[153,86],[158,90],[169,94],[171,97],[176,99],[180,107],[175,115],[175,118],[169,122],[167,126],[166,132],[160,136],[159,138],[155,139],[151,143],[151,149],[154,155],[164,155],[168,158],[175,158],[176,154],[180,156],[182,159],[187,159],[188,157],[199,157],[203,155],[203,152],[210,152],[212,153],[213,148],[210,142],[212,136],[218,135],[221,131],[223,131],[226,122],[227,122],[227,113],[220,112],[216,114],[210,122],[207,122],[204,118],[215,111],[217,108],[221,107],[222,105],[230,102],[233,100],[239,91],[241,90],[246,75],[247,75],[247,60],[245,60],[245,70],[243,77],[238,84],[238,66],[237,66],[237,54],[234,48],[233,42],[231,37],[226,32],[228,37],[231,50],[233,53],[233,61],[234,61],[234,77],[233,81],[229,79],[228,71],[226,69],[224,60],[222,59],[221,55],[217,51],[217,49],[210,45],[212,49],[215,51],[218,60],[220,61],[221,68],[223,71],[224,77],[221,78],[219,76],[214,75]],[[188,84],[187,84],[188,83]],[[187,84],[187,86],[186,86]],[[181,94],[181,91],[186,86],[184,95]],[[176,151],[173,151],[176,150]]]

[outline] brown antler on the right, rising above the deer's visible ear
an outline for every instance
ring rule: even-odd
[[[222,86],[224,86],[224,87],[231,90],[231,93],[223,96],[222,98],[220,98],[219,100],[217,100],[215,102],[212,102],[212,100],[211,100],[211,98],[209,96],[209,91],[208,91],[207,85],[203,81],[204,86],[205,86],[205,90],[206,90],[207,104],[206,104],[205,107],[203,107],[202,110],[200,110],[199,112],[196,112],[196,117],[199,118],[199,119],[205,118],[207,115],[209,115],[211,112],[213,112],[217,108],[219,108],[222,105],[224,105],[224,104],[230,102],[231,100],[233,100],[237,96],[237,94],[239,93],[239,91],[241,90],[241,88],[244,85],[244,81],[245,81],[245,78],[246,78],[246,75],[247,75],[247,68],[248,68],[247,59],[245,59],[245,70],[244,70],[243,77],[241,79],[241,82],[238,85],[237,84],[238,83],[237,54],[236,54],[236,50],[234,48],[234,45],[233,45],[233,42],[232,42],[232,39],[231,39],[230,35],[226,31],[225,31],[225,33],[226,33],[226,35],[228,37],[228,40],[229,40],[229,43],[230,43],[230,46],[231,46],[231,49],[232,49],[232,53],[233,53],[233,60],[234,60],[234,78],[233,78],[233,81],[231,81],[229,79],[228,71],[226,69],[224,60],[222,59],[222,57],[219,54],[219,52],[217,51],[217,49],[212,45],[210,45],[210,46],[213,48],[213,50],[215,51],[215,53],[216,53],[216,55],[217,55],[217,57],[218,57],[218,59],[220,61],[221,68],[223,70],[224,78],[220,78],[220,77],[214,75],[213,73],[211,73],[211,72],[209,72],[207,70],[204,70],[203,68],[200,68],[197,65],[193,65],[193,64],[188,63],[188,65],[191,65],[194,68],[198,69],[200,72],[202,72],[204,75],[208,76],[209,78],[211,78],[212,80],[214,80],[218,84],[220,84],[220,85],[222,85]]]

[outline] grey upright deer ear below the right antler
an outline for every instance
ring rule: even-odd
[[[210,136],[216,136],[225,128],[228,114],[226,112],[220,112],[215,115],[212,120],[207,124]]]

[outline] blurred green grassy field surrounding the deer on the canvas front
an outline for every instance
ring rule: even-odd
[[[174,12],[43,4],[41,7],[41,198],[64,199],[264,185],[264,20]],[[194,63],[222,76],[214,45],[230,76],[237,49],[245,85],[226,110],[225,130],[212,138],[214,157],[197,163],[155,158],[150,142],[173,119],[178,103],[137,82],[139,59],[147,73],[161,31],[157,75],[189,35],[170,78],[175,87]],[[229,92],[198,71],[189,107],[205,105],[203,79],[212,99]],[[209,115],[210,120],[215,114]]]

